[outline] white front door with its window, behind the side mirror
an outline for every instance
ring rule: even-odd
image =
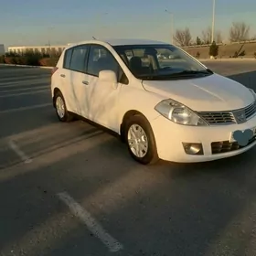
[[[99,80],[101,70],[115,72],[118,80],[117,87]],[[125,83],[123,69],[107,48],[100,45],[91,45],[87,74],[87,82],[91,87],[89,119],[118,132],[119,94],[123,83]],[[123,83],[120,81],[123,81]]]

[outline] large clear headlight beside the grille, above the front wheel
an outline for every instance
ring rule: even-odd
[[[165,116],[167,119],[171,120],[174,123],[193,126],[208,125],[208,123],[206,123],[201,117],[199,117],[196,112],[193,112],[185,105],[177,101],[161,101],[155,106],[155,111],[161,113],[163,116]]]

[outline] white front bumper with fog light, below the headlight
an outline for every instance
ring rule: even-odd
[[[159,157],[177,163],[207,162],[240,155],[256,144],[255,137],[244,147],[229,144],[230,133],[256,127],[256,116],[241,124],[197,127],[176,124],[160,115],[151,125]],[[202,144],[203,155],[188,155],[183,143]]]

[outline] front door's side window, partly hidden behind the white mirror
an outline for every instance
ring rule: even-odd
[[[120,67],[117,60],[112,56],[112,53],[101,46],[91,46],[87,73],[99,77],[101,70],[112,70],[115,72],[119,82],[128,83],[123,69]]]

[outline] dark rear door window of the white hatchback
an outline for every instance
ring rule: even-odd
[[[88,46],[82,45],[73,48],[73,53],[70,61],[70,69],[79,72],[85,72],[86,56]]]

